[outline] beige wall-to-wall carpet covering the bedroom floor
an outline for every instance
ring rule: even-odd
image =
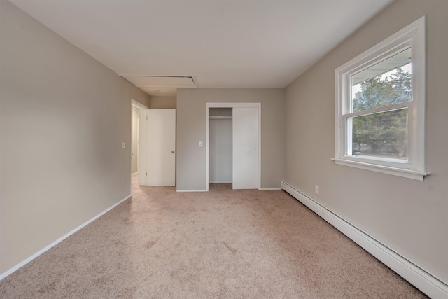
[[[0,281],[0,298],[425,295],[283,191],[134,185],[132,199]]]

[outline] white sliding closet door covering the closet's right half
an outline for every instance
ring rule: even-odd
[[[232,188],[258,189],[258,108],[232,111]]]

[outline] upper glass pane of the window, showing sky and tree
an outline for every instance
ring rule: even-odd
[[[351,76],[352,112],[412,100],[411,48]]]

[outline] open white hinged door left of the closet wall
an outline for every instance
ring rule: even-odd
[[[146,186],[176,186],[176,109],[146,116]]]

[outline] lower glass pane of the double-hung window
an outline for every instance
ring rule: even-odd
[[[351,118],[351,154],[407,160],[407,112],[404,108]]]

